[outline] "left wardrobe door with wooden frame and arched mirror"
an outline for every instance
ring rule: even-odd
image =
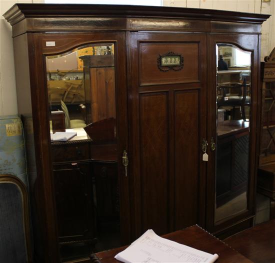
[[[48,147],[59,256],[76,260],[129,242],[125,35],[49,33],[38,44],[47,137],[76,132]]]

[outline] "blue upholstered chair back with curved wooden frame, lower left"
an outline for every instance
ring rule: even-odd
[[[28,198],[14,175],[0,174],[0,262],[30,263]]]

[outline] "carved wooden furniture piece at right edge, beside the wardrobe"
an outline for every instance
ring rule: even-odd
[[[261,142],[257,191],[270,198],[270,219],[275,218],[275,48],[261,62]]]

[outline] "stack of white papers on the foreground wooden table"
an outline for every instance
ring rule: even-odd
[[[147,230],[125,250],[114,256],[125,263],[133,262],[214,262],[217,254],[183,245],[155,234],[152,229]]]

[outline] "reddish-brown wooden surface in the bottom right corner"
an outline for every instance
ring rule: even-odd
[[[223,241],[255,263],[275,262],[275,220],[258,224]]]

